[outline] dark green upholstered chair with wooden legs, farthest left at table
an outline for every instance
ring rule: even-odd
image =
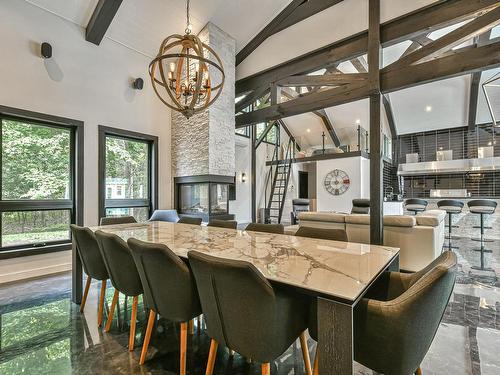
[[[82,303],[80,305],[80,312],[85,309],[87,296],[89,295],[90,283],[92,279],[101,281],[101,294],[98,302],[97,324],[102,325],[102,311],[104,307],[104,297],[106,296],[106,283],[109,279],[108,270],[102,259],[99,245],[95,238],[94,232],[89,228],[79,227],[78,225],[71,224],[71,234],[75,241],[76,251],[82,260],[83,269],[87,275],[87,282],[83,292]]]

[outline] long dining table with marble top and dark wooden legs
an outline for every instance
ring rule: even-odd
[[[161,221],[96,226],[123,240],[164,244],[187,259],[191,250],[247,261],[272,285],[317,299],[319,373],[353,373],[356,304],[386,271],[399,271],[399,249],[387,246]],[[82,298],[82,265],[73,245],[72,300]],[[245,293],[244,290],[241,293]]]

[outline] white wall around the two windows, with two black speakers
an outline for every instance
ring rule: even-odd
[[[0,104],[85,123],[85,224],[98,221],[98,125],[159,137],[159,207],[171,207],[170,113],[149,84],[149,58],[106,38],[88,43],[80,26],[24,1],[0,2],[0,20]],[[44,41],[50,60],[39,57]],[[142,91],[131,88],[137,77]]]

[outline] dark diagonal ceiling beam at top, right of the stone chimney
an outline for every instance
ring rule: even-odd
[[[293,26],[296,23],[315,15],[342,0],[293,0],[271,22],[269,22],[245,47],[236,55],[236,66],[245,60],[267,38]]]

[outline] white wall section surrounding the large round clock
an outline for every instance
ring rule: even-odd
[[[325,176],[334,169],[347,173],[351,180],[349,189],[334,196],[325,189]],[[316,186],[318,211],[351,212],[352,200],[370,197],[370,162],[363,157],[322,160],[316,162]]]

